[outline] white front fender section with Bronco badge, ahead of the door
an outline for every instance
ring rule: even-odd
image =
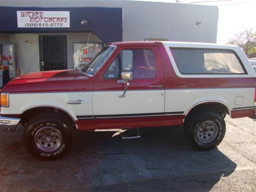
[[[1,108],[1,113],[22,114],[37,106],[58,107],[77,120],[77,115],[92,115],[92,92],[49,92],[10,94],[10,107]],[[67,100],[82,100],[81,104],[67,104]]]

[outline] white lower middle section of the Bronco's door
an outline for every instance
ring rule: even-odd
[[[164,90],[127,90],[93,92],[92,106],[94,115],[163,113]]]

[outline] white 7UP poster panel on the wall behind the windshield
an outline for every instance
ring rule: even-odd
[[[73,43],[73,64],[81,69],[103,48],[103,43]]]

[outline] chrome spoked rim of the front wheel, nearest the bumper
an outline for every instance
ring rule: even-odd
[[[54,127],[40,128],[34,137],[36,147],[45,152],[52,152],[60,147],[62,136]]]

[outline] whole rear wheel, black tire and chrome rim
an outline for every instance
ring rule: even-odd
[[[211,150],[223,140],[226,124],[221,115],[213,111],[200,113],[184,124],[184,134],[197,149]]]

